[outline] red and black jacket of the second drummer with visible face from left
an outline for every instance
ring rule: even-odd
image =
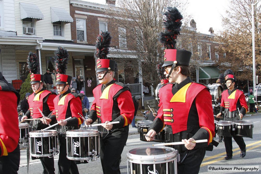
[[[54,110],[50,114],[50,119],[52,122],[61,119],[66,119],[72,117],[67,120],[66,126],[72,126],[76,129],[79,129],[79,125],[83,123],[83,119],[79,116],[78,113],[82,113],[82,104],[81,99],[76,93],[70,93],[68,90],[63,94],[59,94],[54,99]],[[73,128],[74,129],[74,128]]]

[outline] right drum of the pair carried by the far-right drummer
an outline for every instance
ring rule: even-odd
[[[247,120],[238,120],[234,122],[235,124],[235,135],[253,138],[253,127],[254,123]]]

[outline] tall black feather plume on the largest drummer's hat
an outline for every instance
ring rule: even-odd
[[[163,26],[164,32],[158,34],[158,41],[163,44],[166,49],[176,49],[177,35],[180,34],[181,20],[183,19],[177,8],[167,7],[167,11],[163,13],[166,16]]]

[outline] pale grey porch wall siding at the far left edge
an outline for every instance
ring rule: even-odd
[[[16,80],[14,46],[1,46],[2,73],[8,82]]]

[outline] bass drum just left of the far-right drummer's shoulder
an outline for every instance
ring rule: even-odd
[[[207,87],[209,88],[212,96],[212,106],[220,106],[223,87],[217,84],[207,85]]]

